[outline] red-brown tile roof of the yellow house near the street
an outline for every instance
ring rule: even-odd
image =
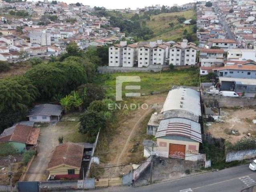
[[[80,168],[83,152],[84,146],[73,142],[67,142],[56,146],[52,158],[48,163],[48,170],[60,165]]]

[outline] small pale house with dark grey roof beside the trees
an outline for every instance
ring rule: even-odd
[[[34,122],[58,122],[62,116],[62,106],[54,104],[39,104],[28,113],[30,121]]]

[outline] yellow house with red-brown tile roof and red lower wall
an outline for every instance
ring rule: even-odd
[[[56,146],[48,163],[49,178],[79,179],[83,153],[84,146],[78,143],[67,142]]]

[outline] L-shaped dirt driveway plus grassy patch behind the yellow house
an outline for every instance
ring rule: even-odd
[[[58,137],[64,136],[64,142],[70,139],[76,142],[73,133],[76,133],[77,124],[78,122],[58,122],[40,128],[38,154],[28,170],[26,181],[46,180],[48,177],[46,169],[54,148],[59,144]]]

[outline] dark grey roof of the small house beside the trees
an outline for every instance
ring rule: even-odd
[[[34,108],[30,110],[28,117],[34,115],[59,116],[61,112],[62,106],[60,105],[40,104],[34,106]]]

